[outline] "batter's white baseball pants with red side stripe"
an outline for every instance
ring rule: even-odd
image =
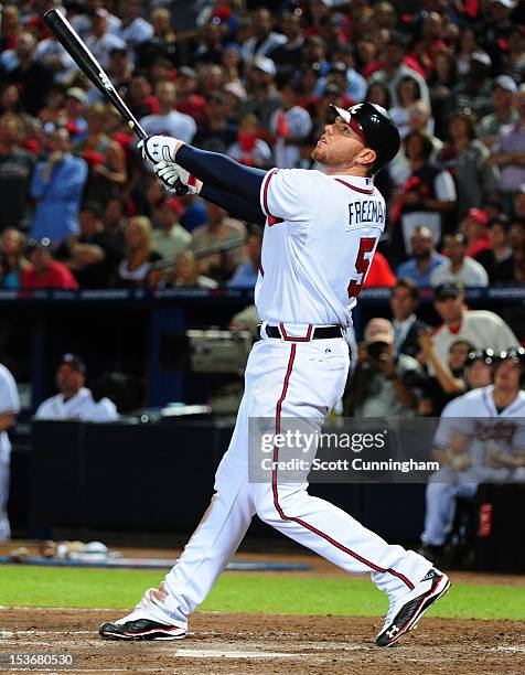
[[[288,335],[304,326],[285,324]],[[296,339],[297,340],[297,339]],[[186,628],[240,544],[255,514],[282,534],[351,574],[369,572],[390,598],[405,594],[432,567],[414,551],[392,546],[351,515],[311,496],[307,484],[248,482],[248,420],[283,417],[322,421],[341,399],[349,371],[343,339],[269,339],[262,331],[249,355],[235,430],[215,479],[216,494],[176,565],[167,575],[159,620]]]

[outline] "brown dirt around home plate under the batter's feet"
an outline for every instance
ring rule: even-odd
[[[180,642],[106,642],[97,628],[115,610],[0,609],[1,673],[7,654],[71,654],[68,666],[39,673],[345,674],[524,673],[517,621],[425,619],[399,646],[378,649],[378,619],[197,612]]]

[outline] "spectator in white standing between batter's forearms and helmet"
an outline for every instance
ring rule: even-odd
[[[312,130],[308,110],[297,105],[299,89],[291,82],[281,89],[282,106],[274,111],[270,131],[274,133],[274,164],[294,169],[300,159],[300,146]]]

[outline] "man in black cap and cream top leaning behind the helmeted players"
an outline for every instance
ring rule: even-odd
[[[435,291],[433,307],[443,322],[433,333],[433,345],[441,361],[446,361],[450,345],[464,340],[475,349],[490,347],[501,352],[518,346],[508,325],[494,312],[468,311],[464,294],[458,283],[442,283]]]

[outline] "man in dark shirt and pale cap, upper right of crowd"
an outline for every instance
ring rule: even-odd
[[[471,54],[469,72],[452,87],[444,114],[468,108],[475,110],[481,119],[492,113],[491,65],[491,57],[485,52],[475,51]]]

